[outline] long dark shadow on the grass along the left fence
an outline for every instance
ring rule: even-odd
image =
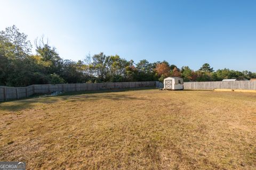
[[[111,89],[111,90],[92,90],[92,91],[76,91],[76,92],[64,92],[58,96],[32,96],[26,99],[6,101],[0,103],[0,111],[19,111],[22,109],[31,109],[37,103],[41,104],[54,104],[57,101],[93,101],[99,99],[110,99],[110,100],[146,100],[143,98],[132,97],[121,94],[108,94],[110,92],[123,92],[123,91],[134,91],[134,90],[148,90],[154,88],[134,88],[134,89]],[[86,95],[90,94],[90,95]],[[94,95],[93,95],[94,94]],[[86,95],[86,96],[85,96]]]

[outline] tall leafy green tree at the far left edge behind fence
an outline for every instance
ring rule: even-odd
[[[2,85],[27,86],[33,71],[29,58],[30,41],[19,29],[7,27],[0,32],[0,80]]]

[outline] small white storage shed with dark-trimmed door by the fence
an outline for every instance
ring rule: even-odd
[[[164,79],[165,90],[183,90],[183,79],[178,77],[169,77]]]

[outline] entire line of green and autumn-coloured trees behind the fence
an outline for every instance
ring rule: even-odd
[[[104,53],[87,55],[77,62],[63,60],[56,48],[44,38],[35,40],[36,54],[27,35],[15,25],[0,32],[0,86],[29,86],[31,84],[163,81],[166,77],[181,77],[184,81],[221,81],[222,79],[256,78],[250,71],[222,69],[214,71],[205,63],[199,70],[189,66],[178,68],[166,61],[138,63],[118,55]]]

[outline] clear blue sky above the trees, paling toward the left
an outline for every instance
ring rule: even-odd
[[[0,1],[0,29],[44,35],[62,58],[89,52],[256,72],[256,1]]]

